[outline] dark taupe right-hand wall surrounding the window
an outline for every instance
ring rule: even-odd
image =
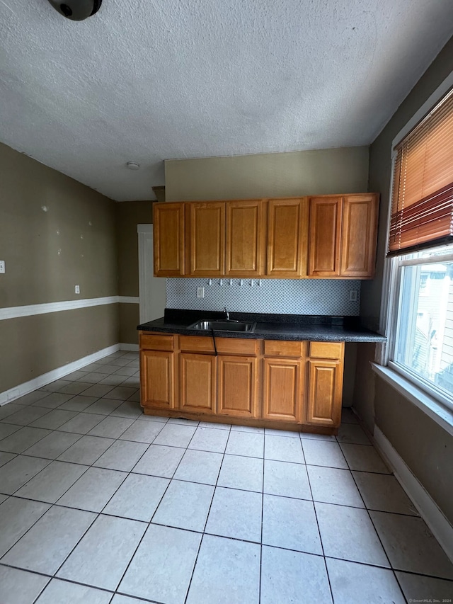
[[[389,207],[391,141],[437,86],[452,72],[452,69],[453,38],[447,42],[370,148],[369,187],[371,190],[381,192],[381,207],[377,277],[374,281],[362,285],[361,314],[367,319],[369,326],[379,324]],[[396,390],[373,375],[369,365],[372,357],[371,347],[367,347],[363,355],[358,355],[355,406],[371,431],[374,429],[374,422],[379,426],[413,474],[452,522],[453,437]]]

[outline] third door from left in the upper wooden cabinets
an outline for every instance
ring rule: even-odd
[[[266,209],[263,200],[226,202],[226,275],[264,275]]]

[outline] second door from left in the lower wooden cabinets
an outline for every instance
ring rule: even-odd
[[[179,356],[179,408],[212,414],[216,399],[216,357],[211,355]]]

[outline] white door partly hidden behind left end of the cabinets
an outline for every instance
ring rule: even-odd
[[[166,279],[154,277],[153,225],[137,224],[140,323],[164,317]]]

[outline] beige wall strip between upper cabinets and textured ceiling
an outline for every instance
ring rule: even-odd
[[[166,201],[361,193],[368,147],[165,162]]]

